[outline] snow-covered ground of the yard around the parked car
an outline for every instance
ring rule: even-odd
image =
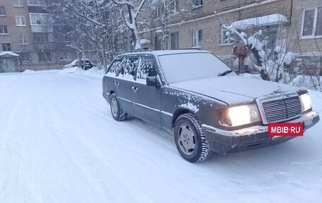
[[[0,202],[321,202],[322,122],[278,146],[184,161],[173,137],[113,120],[102,74],[0,74]],[[311,91],[322,112],[322,94]]]

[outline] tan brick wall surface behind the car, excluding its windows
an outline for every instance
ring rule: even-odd
[[[193,46],[193,30],[203,29],[203,46],[204,50],[209,50],[220,56],[228,64],[232,65],[236,57],[232,56],[233,45],[225,45],[221,43],[221,22],[214,16],[214,11],[217,11],[223,23],[232,23],[247,18],[254,18],[259,16],[266,16],[273,13],[279,13],[286,16],[289,20],[288,23],[283,25],[273,25],[264,28],[256,28],[254,30],[246,30],[247,35],[252,35],[258,29],[265,30],[266,32],[275,33],[275,45],[285,45],[287,52],[303,53],[306,56],[313,53],[312,57],[305,57],[304,60],[299,60],[293,63],[293,66],[303,67],[300,62],[306,61],[309,66],[319,62],[317,52],[318,49],[322,50],[322,37],[315,39],[302,39],[301,28],[303,10],[305,8],[314,8],[322,6],[321,0],[273,0],[273,1],[238,1],[238,0],[224,0],[224,1],[203,1],[204,5],[200,8],[192,8],[191,4],[187,1],[179,1],[179,10],[184,9],[185,12],[181,13],[180,18],[173,18],[169,23],[169,33],[179,32],[179,47],[186,48]],[[263,4],[267,3],[268,4]],[[262,3],[262,4],[255,4]],[[254,6],[256,5],[256,6]],[[244,9],[239,9],[242,6]],[[160,23],[154,21],[155,28],[160,26]],[[243,30],[244,31],[244,30]],[[251,33],[253,32],[253,33]],[[155,30],[149,30],[142,33],[147,39],[152,40],[155,36]],[[170,35],[169,35],[170,36]],[[171,39],[169,37],[168,43],[170,48]],[[234,42],[233,44],[236,44]],[[153,43],[147,45],[153,49]],[[299,54],[297,54],[299,56]],[[318,67],[318,64],[316,65]]]

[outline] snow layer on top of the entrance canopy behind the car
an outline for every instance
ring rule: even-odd
[[[235,21],[229,25],[230,28],[234,29],[246,29],[268,25],[278,25],[286,23],[287,17],[281,14],[270,14],[268,16],[261,16],[257,18],[248,18],[241,21]]]

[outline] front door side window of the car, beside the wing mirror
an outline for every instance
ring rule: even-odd
[[[139,83],[146,83],[145,79],[148,76],[157,76],[157,71],[155,69],[155,60],[153,58],[143,58],[141,59],[141,64],[138,67],[136,73],[136,81]]]

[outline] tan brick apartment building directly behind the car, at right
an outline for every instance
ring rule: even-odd
[[[277,48],[295,53],[294,67],[310,69],[311,74],[321,69],[321,0],[180,0],[166,5],[169,49],[201,47],[239,69],[239,54],[243,52],[234,52],[234,47],[242,47],[243,43],[238,35],[223,28],[229,25],[247,37],[261,30],[268,41],[266,48],[272,53]],[[142,12],[148,25],[141,28],[143,47],[161,50],[164,4],[156,5],[150,13],[146,9]],[[253,53],[248,50],[242,63],[251,69],[254,61],[250,61],[249,54]]]

